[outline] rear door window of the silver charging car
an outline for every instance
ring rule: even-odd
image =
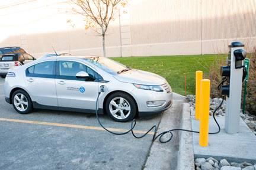
[[[55,78],[55,61],[45,61],[34,66],[28,67],[26,76],[28,77],[45,77]]]

